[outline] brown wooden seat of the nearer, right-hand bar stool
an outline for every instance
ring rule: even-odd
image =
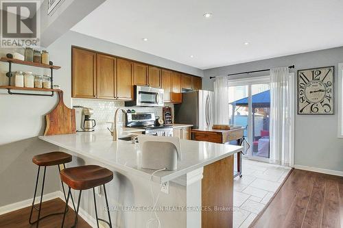
[[[65,168],[60,175],[62,181],[75,190],[101,186],[113,179],[112,171],[95,165]]]

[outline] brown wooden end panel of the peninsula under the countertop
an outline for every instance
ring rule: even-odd
[[[202,228],[233,227],[233,155],[204,166],[202,209]]]

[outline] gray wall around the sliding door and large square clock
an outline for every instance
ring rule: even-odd
[[[295,164],[343,171],[343,140],[337,136],[338,127],[338,63],[343,62],[343,47],[313,51],[280,58],[211,68],[204,71],[203,88],[213,89],[210,76],[255,71],[278,66],[295,65],[296,71],[320,66],[335,66],[335,114],[331,116],[295,116]],[[246,77],[240,75],[238,77]],[[296,79],[294,80],[296,82]],[[295,91],[296,92],[296,91]],[[296,104],[294,104],[296,105]]]

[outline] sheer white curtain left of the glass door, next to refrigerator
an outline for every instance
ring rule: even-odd
[[[214,121],[215,124],[228,125],[228,79],[216,77],[214,84]]]

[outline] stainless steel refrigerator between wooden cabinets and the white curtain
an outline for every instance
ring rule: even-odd
[[[196,90],[182,93],[182,103],[174,105],[175,123],[193,124],[193,129],[206,129],[213,125],[214,93]]]

